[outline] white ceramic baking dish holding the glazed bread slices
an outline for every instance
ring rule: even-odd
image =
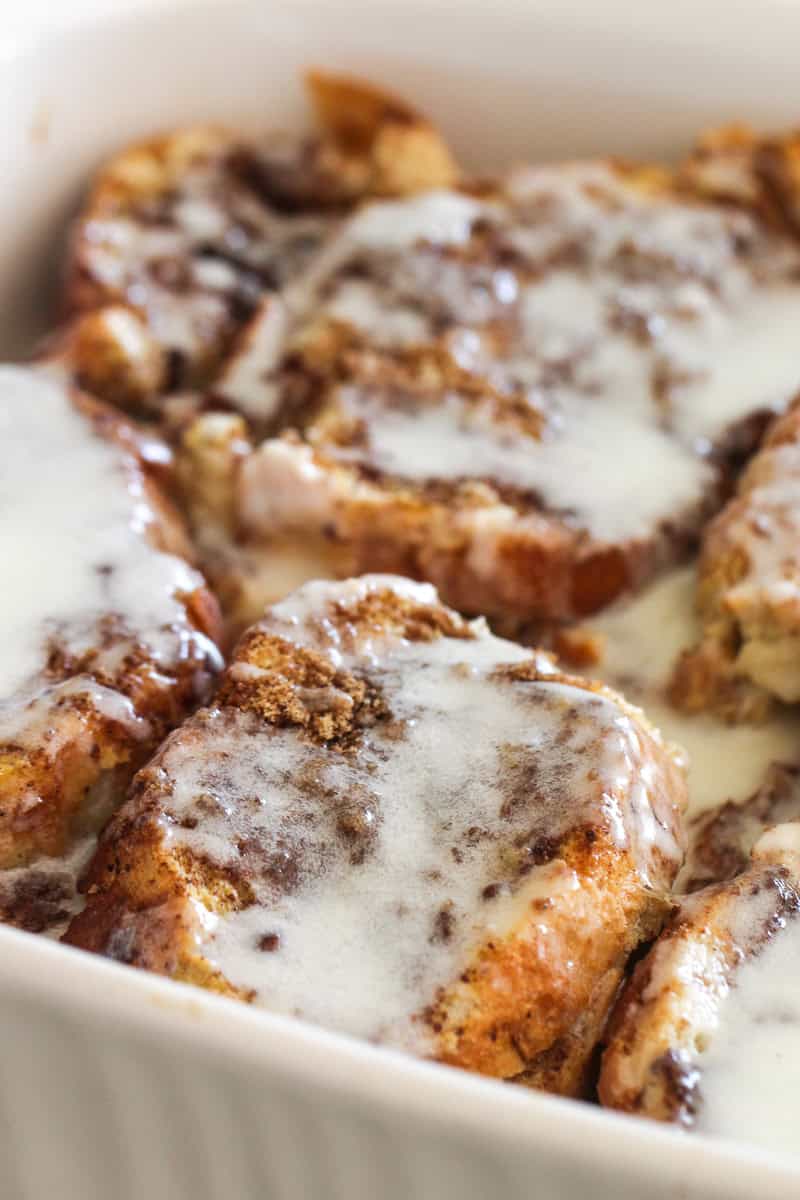
[[[194,119],[295,125],[305,64],[393,85],[485,166],[663,155],[721,119],[800,120],[800,5],[778,0],[107,7],[0,44],[5,354],[44,326],[65,218],[108,150]],[[798,1194],[800,1158],[417,1063],[0,929],[2,1200]]]

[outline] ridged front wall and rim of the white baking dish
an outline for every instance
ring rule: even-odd
[[[763,1154],[0,930],[2,1200],[794,1200]]]

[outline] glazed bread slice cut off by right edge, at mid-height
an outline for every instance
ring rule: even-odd
[[[682,708],[752,720],[800,700],[800,406],[775,421],[706,529],[697,602],[702,641],[672,684]]]

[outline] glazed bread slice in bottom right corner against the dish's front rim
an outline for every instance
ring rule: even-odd
[[[756,844],[741,875],[681,901],[612,1018],[600,1075],[603,1104],[753,1136],[747,1128],[726,1128],[716,1106],[721,1091],[758,1097],[769,1090],[771,1061],[763,1061],[758,1080],[750,1073],[746,1046],[758,1034],[759,1006],[750,1010],[746,988],[769,971],[771,992],[760,995],[771,995],[771,1003],[762,1006],[760,1020],[781,1020],[781,996],[787,985],[790,990],[798,961],[799,835],[800,824],[775,827]],[[752,1024],[745,1027],[745,1020]],[[780,1056],[776,1062],[780,1067]],[[720,1063],[724,1076],[715,1074]]]

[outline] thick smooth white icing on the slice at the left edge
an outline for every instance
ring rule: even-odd
[[[136,644],[169,670],[190,636],[218,660],[207,638],[190,634],[179,600],[203,580],[146,541],[154,515],[139,473],[53,377],[0,367],[0,737],[19,736],[23,724],[34,734],[44,696],[78,692],[144,737],[146,722],[112,689],[82,676],[43,678],[50,646],[80,655],[100,644],[98,623],[113,619],[119,637],[101,650],[100,670],[113,671]]]

